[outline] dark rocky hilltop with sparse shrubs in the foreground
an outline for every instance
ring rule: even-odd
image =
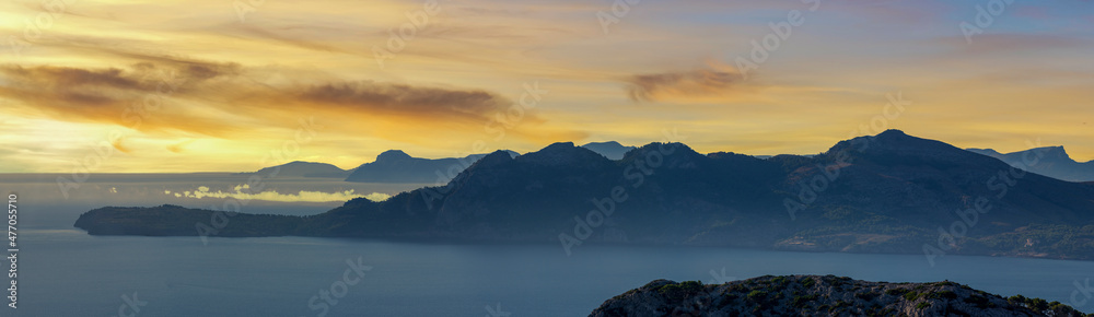
[[[866,282],[835,275],[759,277],[724,284],[656,280],[607,300],[590,317],[624,316],[1070,316],[1075,308],[1004,298],[954,282]]]

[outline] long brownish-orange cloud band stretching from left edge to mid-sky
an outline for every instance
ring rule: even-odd
[[[339,132],[393,140],[415,130],[430,133],[426,138],[441,136],[439,130],[481,134],[482,126],[514,104],[485,90],[338,79],[299,83],[279,80],[293,78],[294,69],[277,71],[280,77],[271,80],[263,73],[267,69],[179,58],[124,69],[0,66],[0,98],[59,120],[226,139],[303,115],[325,117]],[[544,122],[534,111],[522,121]],[[412,127],[421,125],[438,129]],[[178,153],[187,144],[167,150]]]

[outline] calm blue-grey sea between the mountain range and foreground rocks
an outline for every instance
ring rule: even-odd
[[[163,202],[207,208],[220,201],[164,201],[156,192],[196,185],[226,188],[237,180],[96,175],[63,199],[51,176],[31,180],[9,176],[0,178],[0,189],[20,190],[20,301],[18,309],[0,307],[0,316],[116,316],[135,293],[143,304],[136,316],[318,316],[322,308],[312,309],[309,302],[321,290],[330,292],[333,284],[342,297],[328,295],[338,302],[327,305],[326,316],[493,316],[486,307],[497,313],[499,305],[513,317],[586,316],[603,301],[654,279],[714,283],[764,274],[837,274],[893,282],[948,279],[1094,313],[1094,298],[1080,293],[1078,303],[1070,300],[1075,281],[1094,278],[1094,261],[946,256],[931,268],[917,255],[585,244],[568,257],[557,244],[272,237],[212,238],[202,245],[197,237],[100,237],[72,228],[81,212]],[[118,185],[135,181],[147,184]],[[395,193],[414,187],[294,179],[271,184],[289,192],[345,187]],[[309,214],[338,204],[254,202],[243,212]],[[358,258],[372,269],[362,271],[357,284],[340,287],[349,269],[346,261]],[[358,280],[352,271],[348,278]],[[123,313],[132,316],[133,310],[126,308]]]

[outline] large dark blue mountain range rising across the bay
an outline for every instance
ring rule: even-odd
[[[554,242],[567,253],[613,242],[1094,259],[1091,197],[1094,185],[1015,174],[999,160],[889,130],[812,157],[702,155],[682,143],[647,144],[618,161],[573,143],[516,157],[499,151],[446,186],[350,200],[292,226],[253,221],[270,228],[265,235]],[[154,208],[104,208],[78,226],[197,234],[193,222],[171,219]]]

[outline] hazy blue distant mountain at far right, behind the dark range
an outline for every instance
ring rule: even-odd
[[[1094,161],[1071,160],[1063,146],[1047,146],[1002,154],[991,149],[967,149],[1006,162],[1011,166],[1069,181],[1094,181]]]

